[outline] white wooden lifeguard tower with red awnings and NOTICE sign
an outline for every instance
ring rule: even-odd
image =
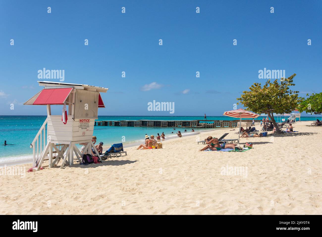
[[[82,153],[76,146],[78,143],[87,143],[84,151],[92,147],[98,154],[92,143],[94,121],[98,118],[98,108],[105,108],[99,93],[107,92],[108,88],[61,82],[38,83],[44,88],[24,103],[47,106],[47,118],[30,144],[33,148],[33,167],[37,166],[38,171],[47,156],[49,168],[60,159],[60,168],[65,163],[72,165],[74,153],[81,163]],[[51,105],[62,105],[63,108],[64,104],[68,105],[66,124],[62,122],[62,114],[51,113]],[[53,153],[56,153],[54,161]]]

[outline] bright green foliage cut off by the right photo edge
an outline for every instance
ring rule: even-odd
[[[307,94],[308,96],[309,94]],[[305,111],[307,114],[321,114],[322,113],[322,92],[313,93],[308,98],[302,98],[302,102],[298,104],[298,111]]]

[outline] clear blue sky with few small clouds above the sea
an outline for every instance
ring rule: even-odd
[[[321,1],[1,1],[0,114],[46,114],[21,105],[44,67],[109,88],[99,115],[222,115],[264,68],[296,73],[300,96],[319,93],[321,12]],[[175,113],[148,111],[153,100]]]

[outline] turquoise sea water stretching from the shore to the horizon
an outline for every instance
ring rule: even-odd
[[[32,158],[32,149],[29,147],[38,133],[47,116],[0,116],[0,162],[11,160],[24,160]],[[99,116],[98,120],[202,120],[203,116]],[[227,116],[207,116],[208,120],[236,120]],[[315,117],[301,117],[301,121],[312,121]],[[164,132],[166,137],[176,136],[177,131],[184,134],[192,133],[190,128],[158,128],[158,127],[120,127],[120,126],[94,126],[94,135],[97,143],[103,142],[104,147],[113,143],[129,145],[130,143],[144,141],[144,136]],[[210,128],[212,130],[213,128]],[[204,131],[205,128],[195,128],[195,132]],[[174,133],[172,133],[174,132]],[[123,141],[122,141],[123,139]],[[125,141],[124,141],[125,139]],[[7,145],[4,146],[4,141]]]

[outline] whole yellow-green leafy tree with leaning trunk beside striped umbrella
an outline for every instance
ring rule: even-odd
[[[289,78],[282,78],[280,83],[277,79],[273,82],[267,80],[263,87],[260,83],[254,83],[249,88],[250,91],[244,91],[241,98],[237,100],[249,111],[268,114],[276,127],[276,132],[280,132],[273,113],[291,113],[302,101],[302,98],[298,97],[298,91],[292,91],[289,88],[295,85],[293,84],[295,76],[296,74],[293,74]]]

